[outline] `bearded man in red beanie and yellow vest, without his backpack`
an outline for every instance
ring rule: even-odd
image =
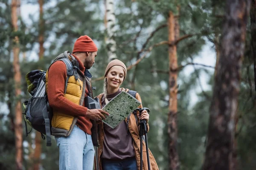
[[[93,169],[93,125],[90,119],[102,120],[105,119],[104,114],[109,115],[101,109],[84,107],[84,97],[92,96],[92,76],[88,69],[94,64],[97,51],[90,37],[81,36],[76,40],[72,54],[75,60],[72,63],[78,63],[78,74],[67,79],[67,68],[63,61],[54,62],[47,71],[47,95],[53,109],[52,135],[59,148],[60,170]],[[69,54],[70,59],[72,56]]]

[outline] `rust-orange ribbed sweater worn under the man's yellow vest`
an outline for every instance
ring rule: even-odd
[[[84,74],[85,67],[83,63],[74,54],[72,55],[78,60],[80,71]],[[87,108],[84,107],[84,103],[80,106],[64,97],[66,78],[67,68],[65,63],[62,61],[56,61],[53,63],[48,71],[47,95],[49,105],[63,113],[78,116],[76,125],[78,125],[85,133],[91,135],[92,122],[86,117]],[[88,90],[86,89],[85,96],[87,96],[87,94]]]

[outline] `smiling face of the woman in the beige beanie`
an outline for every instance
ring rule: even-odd
[[[125,72],[124,69],[119,66],[115,65],[113,66],[106,76],[107,82],[108,82],[108,88],[119,88],[120,85],[122,85],[122,82],[124,81]]]

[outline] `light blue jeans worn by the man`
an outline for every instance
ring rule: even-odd
[[[94,147],[91,135],[77,125],[70,136],[55,136],[60,170],[93,170]]]

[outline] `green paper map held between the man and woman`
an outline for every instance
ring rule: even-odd
[[[109,113],[109,116],[106,116],[106,119],[102,120],[102,122],[111,128],[115,128],[128,116],[129,113],[133,112],[140,104],[141,103],[139,100],[127,92],[122,91],[102,108],[102,110]]]

